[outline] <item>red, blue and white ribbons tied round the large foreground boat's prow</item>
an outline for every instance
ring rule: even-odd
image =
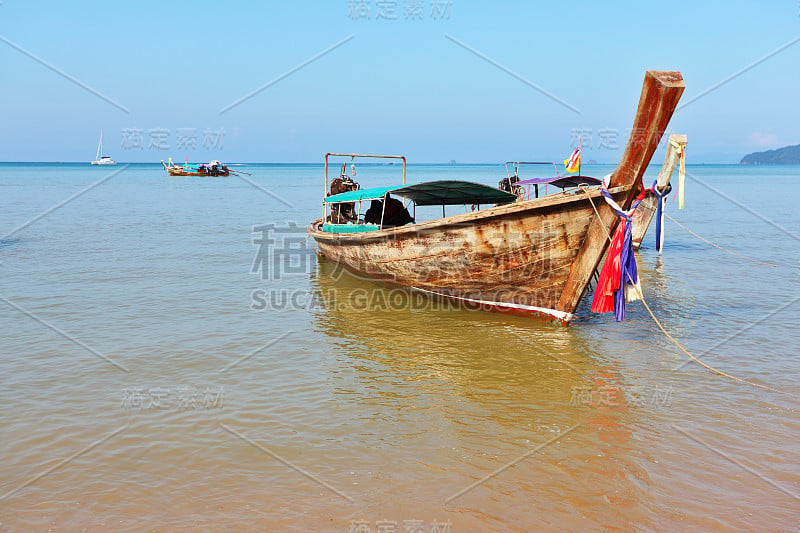
[[[597,289],[592,298],[592,311],[595,313],[614,311],[614,318],[617,322],[622,322],[625,320],[625,302],[641,298],[636,257],[633,255],[631,242],[631,226],[633,212],[644,198],[645,191],[642,190],[633,201],[631,208],[625,211],[614,201],[605,185],[601,190],[606,203],[616,211],[622,224],[617,225],[608,248],[606,261],[600,270]]]

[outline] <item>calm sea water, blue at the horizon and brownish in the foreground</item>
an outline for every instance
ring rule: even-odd
[[[0,530],[797,531],[800,167],[667,204],[779,267],[669,220],[638,253],[677,342],[783,393],[641,303],[562,327],[350,277],[304,240],[321,165],[232,168],[0,165]]]

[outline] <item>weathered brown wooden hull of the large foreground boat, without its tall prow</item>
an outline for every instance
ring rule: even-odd
[[[625,188],[612,191],[621,198]],[[599,190],[498,206],[368,234],[308,228],[320,252],[366,278],[504,311],[562,322],[557,309]]]

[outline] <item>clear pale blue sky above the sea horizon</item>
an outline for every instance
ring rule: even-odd
[[[683,73],[689,163],[800,143],[798,0],[2,0],[0,38],[1,161],[89,161],[102,129],[118,161],[555,160],[582,134],[613,163],[648,69]]]

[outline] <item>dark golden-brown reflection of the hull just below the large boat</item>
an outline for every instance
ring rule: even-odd
[[[498,391],[504,401],[517,397],[521,410],[500,418],[558,405],[567,424],[575,414],[575,391],[590,386],[587,376],[598,370],[579,332],[517,315],[472,313],[449,299],[364,283],[324,257],[312,288],[317,329],[334,340],[337,352],[408,373],[411,380],[457,386],[459,395],[481,403],[493,403]]]

